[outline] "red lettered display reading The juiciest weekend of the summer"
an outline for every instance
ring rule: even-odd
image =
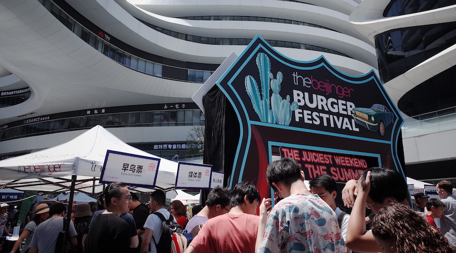
[[[358,179],[367,168],[377,167],[380,159],[378,154],[347,154],[326,150],[328,151],[280,147],[280,156],[296,160],[305,173],[306,180],[310,181],[319,175],[329,175],[336,182]]]

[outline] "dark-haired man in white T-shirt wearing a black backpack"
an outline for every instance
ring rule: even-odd
[[[165,208],[166,195],[162,190],[155,190],[150,193],[150,210],[152,213],[147,217],[144,223],[144,238],[141,243],[140,253],[167,253],[171,251],[171,237],[162,236],[164,223],[168,227],[176,228],[176,232],[180,232],[182,228],[175,223],[176,220]],[[164,234],[165,235],[165,234]]]

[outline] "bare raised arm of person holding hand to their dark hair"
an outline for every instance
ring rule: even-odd
[[[347,229],[346,244],[352,250],[361,252],[381,252],[371,231],[366,231],[366,199],[370,191],[370,172],[367,172],[365,187],[358,181],[358,196],[353,205]],[[344,201],[345,202],[345,201]]]

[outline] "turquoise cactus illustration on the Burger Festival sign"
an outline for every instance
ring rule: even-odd
[[[273,73],[271,73],[271,62],[264,53],[258,53],[256,56],[256,66],[260,74],[261,94],[255,78],[251,75],[245,77],[245,88],[252,101],[253,109],[261,122],[289,125],[291,112],[298,108],[298,104],[295,101],[290,104],[289,95],[286,99],[282,99],[279,95],[280,84],[283,80],[282,72],[278,71],[277,78],[274,78]],[[273,92],[271,101],[269,89]]]

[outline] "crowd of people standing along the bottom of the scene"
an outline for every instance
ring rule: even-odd
[[[308,188],[296,161],[282,158],[268,165],[266,176],[280,197],[275,201],[261,198],[255,185],[240,182],[233,189],[212,189],[193,217],[179,200],[166,208],[162,190],[153,191],[144,204],[125,184],[109,184],[97,203],[75,208],[68,230],[70,249],[78,253],[170,252],[171,242],[163,242],[163,233],[164,224],[173,222],[188,234],[185,253],[456,252],[456,197],[448,181],[436,186],[441,200],[417,193],[412,209],[400,174],[369,168],[341,191],[344,205],[352,208],[349,214],[336,204],[337,185],[329,175],[315,177]],[[5,207],[0,205],[3,224]],[[367,216],[366,209],[373,215]],[[21,253],[56,252],[66,212],[62,203],[37,205],[11,252],[17,252],[23,241]],[[440,218],[440,231],[436,218]]]

